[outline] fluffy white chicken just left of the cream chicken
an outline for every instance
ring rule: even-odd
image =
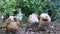
[[[28,18],[28,24],[29,26],[32,26],[34,24],[38,25],[39,23],[39,20],[38,20],[38,15],[33,13],[31,15],[29,15],[29,18]]]

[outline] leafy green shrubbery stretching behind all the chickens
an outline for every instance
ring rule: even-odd
[[[22,13],[25,16],[31,13],[38,13],[39,15],[45,12],[46,9],[50,9],[50,16],[55,19],[57,13],[54,3],[50,0],[0,0],[0,13],[5,15],[15,15],[16,8],[22,8]]]

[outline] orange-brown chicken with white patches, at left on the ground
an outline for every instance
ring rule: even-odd
[[[10,16],[8,19],[6,19],[3,22],[2,27],[6,28],[6,32],[12,32],[12,31],[16,31],[19,26],[20,26],[19,20],[14,16]]]

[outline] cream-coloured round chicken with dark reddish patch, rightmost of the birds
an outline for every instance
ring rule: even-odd
[[[47,29],[49,27],[50,22],[51,22],[51,18],[47,13],[42,13],[40,15],[40,25],[43,28]]]

